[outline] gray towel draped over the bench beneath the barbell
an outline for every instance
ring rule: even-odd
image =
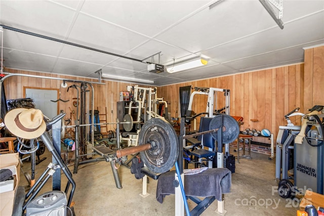
[[[166,195],[174,194],[175,170],[166,172],[158,178],[156,186],[156,200],[160,203]],[[209,197],[215,196],[219,201],[222,194],[230,193],[231,171],[227,168],[210,168],[195,175],[184,176],[184,190],[186,196]]]

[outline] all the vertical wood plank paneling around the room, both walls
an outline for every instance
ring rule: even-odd
[[[9,69],[11,73],[27,73],[32,75],[52,76],[65,79],[78,79],[94,81],[81,77],[61,76],[57,74],[36,73],[21,70]],[[324,105],[324,46],[305,50],[305,63],[284,67],[277,67],[266,70],[259,70],[247,73],[240,73],[224,77],[215,77],[205,80],[196,80],[157,88],[157,96],[168,101],[168,109],[171,117],[179,117],[179,87],[191,85],[192,87],[213,87],[230,90],[230,114],[244,117],[244,125],[240,129],[263,128],[270,129],[276,137],[279,125],[286,125],[285,114],[296,107],[300,112],[308,113],[307,109],[313,105]],[[24,98],[23,87],[38,87],[58,89],[61,98],[69,99],[67,103],[59,103],[59,110],[67,113],[66,118],[72,116],[72,123],[75,118],[71,110],[75,111],[72,105],[72,98],[76,98],[75,89],[60,89],[62,81],[53,79],[39,79],[32,77],[13,76],[5,80],[5,91],[7,100]],[[102,84],[94,84],[95,109],[103,113],[107,108],[107,121],[116,121],[116,102],[119,100],[119,92],[127,91],[128,85],[115,81],[104,81]],[[71,84],[71,83],[68,83]],[[76,83],[77,84],[77,83]],[[148,85],[140,85],[147,87]],[[91,94],[90,94],[91,95]],[[220,99],[217,108],[225,105]],[[195,97],[192,110],[195,113],[205,112],[207,96]],[[73,119],[74,118],[74,119]],[[251,119],[258,119],[253,122]],[[295,124],[300,124],[301,119],[292,119]],[[197,128],[198,128],[197,121]],[[108,125],[107,129],[114,129],[115,125]],[[258,138],[265,139],[265,138]],[[263,142],[263,140],[259,140]]]

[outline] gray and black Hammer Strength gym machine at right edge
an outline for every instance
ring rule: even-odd
[[[279,127],[276,180],[279,181],[278,194],[281,197],[305,195],[306,189],[324,193],[324,114],[320,114],[323,108],[318,105],[312,107],[310,113],[303,115],[301,126]],[[298,110],[287,114],[286,119],[289,120],[289,116]],[[289,175],[289,170],[293,170],[293,175]]]

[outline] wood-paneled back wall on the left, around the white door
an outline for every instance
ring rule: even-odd
[[[98,82],[97,79],[89,79],[84,77],[72,77],[72,76],[61,76],[58,74],[49,74],[49,73],[38,73],[38,72],[30,72],[30,71],[22,71],[22,70],[14,70],[14,69],[6,69],[6,71],[10,73],[19,73],[19,74],[29,74],[29,75],[37,75],[37,76],[50,76],[50,77],[59,77],[64,79],[73,79],[73,80],[83,80],[83,81],[92,81]],[[64,119],[70,118],[72,120],[72,124],[75,124],[74,120],[76,119],[76,107],[73,106],[73,98],[76,98],[77,91],[73,88],[70,88],[67,92],[67,89],[61,88],[62,80],[56,79],[47,79],[47,78],[34,78],[27,76],[12,76],[6,78],[4,81],[5,92],[7,100],[10,99],[19,99],[25,98],[24,96],[24,88],[44,88],[44,89],[57,89],[61,93],[62,100],[69,100],[69,102],[58,102],[53,105],[58,105],[58,112],[63,110],[66,113]],[[92,84],[94,88],[94,108],[99,110],[100,114],[104,114],[107,109],[107,122],[116,122],[117,118],[117,101],[119,101],[119,92],[127,91],[128,85],[134,85],[133,83],[124,83],[124,82],[116,82],[116,81],[103,81],[104,84]],[[67,82],[68,87],[72,84],[80,86],[80,83],[72,83]],[[142,85],[141,85],[142,86]],[[143,86],[147,87],[148,86]],[[78,90],[80,90],[78,88]],[[91,88],[89,90],[89,96],[91,97]],[[91,100],[91,99],[90,99]],[[75,101],[75,100],[74,100]],[[91,107],[90,107],[91,109]],[[74,114],[72,113],[74,111]],[[100,117],[104,119],[103,116]],[[109,131],[110,129],[114,130],[115,124],[109,124],[107,128],[103,128],[102,133]]]

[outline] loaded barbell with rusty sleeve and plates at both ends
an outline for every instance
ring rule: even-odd
[[[211,133],[217,140],[219,129],[222,133],[222,143],[231,143],[239,135],[237,121],[226,114],[215,116],[210,122],[209,129],[209,131],[183,136],[183,139]],[[138,146],[116,150],[115,156],[121,158],[135,153],[140,153],[144,164],[152,172],[169,171],[179,156],[179,138],[175,129],[162,118],[147,120],[139,133]]]

